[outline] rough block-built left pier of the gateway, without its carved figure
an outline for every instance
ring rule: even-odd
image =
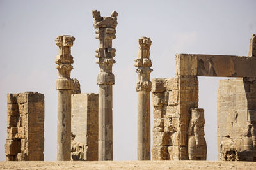
[[[153,160],[188,160],[190,109],[198,108],[196,76],[152,79]]]

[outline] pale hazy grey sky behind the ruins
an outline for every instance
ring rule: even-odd
[[[175,53],[248,55],[256,33],[256,1],[3,1],[0,0],[0,160],[5,160],[6,94],[37,91],[45,96],[45,160],[56,160],[58,54],[55,39],[69,34],[72,78],[81,91],[98,92],[92,10],[118,12],[113,48],[113,159],[136,160],[138,39],[152,39],[151,78],[175,76]],[[244,68],[246,69],[246,68]],[[199,78],[205,110],[207,160],[217,160],[217,89],[220,78]],[[153,112],[151,110],[151,115]],[[152,121],[153,122],[153,118]],[[152,123],[151,123],[152,127]]]

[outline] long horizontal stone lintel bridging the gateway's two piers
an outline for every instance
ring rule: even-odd
[[[175,59],[176,75],[256,77],[256,57],[177,54]]]

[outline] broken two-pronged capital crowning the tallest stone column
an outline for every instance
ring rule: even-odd
[[[117,25],[117,15],[116,11],[113,11],[110,17],[101,17],[100,11],[92,10],[93,26],[95,29],[99,28],[112,28],[115,29]]]

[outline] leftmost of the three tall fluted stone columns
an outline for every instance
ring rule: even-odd
[[[58,36],[56,45],[59,46],[59,54],[55,60],[59,78],[56,81],[58,90],[58,125],[57,125],[57,160],[70,160],[71,152],[71,90],[73,80],[70,78],[74,62],[71,55],[73,36]]]

